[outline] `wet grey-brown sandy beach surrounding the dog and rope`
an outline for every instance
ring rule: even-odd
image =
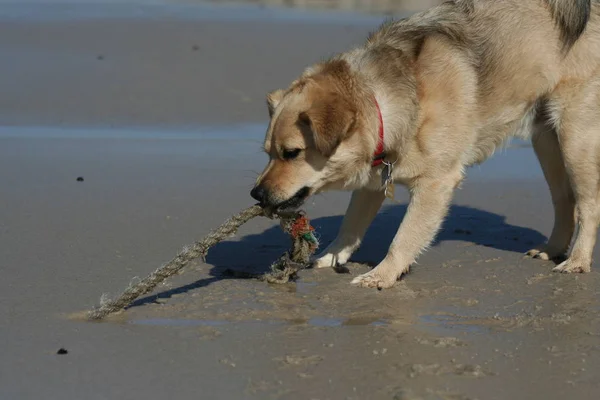
[[[1,399],[598,398],[598,266],[523,258],[553,215],[527,146],[469,172],[394,289],[349,282],[385,255],[401,188],[349,274],[226,279],[286,250],[260,219],[111,321],[70,320],[251,204],[266,91],[380,21],[94,7],[0,5]],[[307,204],[323,245],[348,199]]]

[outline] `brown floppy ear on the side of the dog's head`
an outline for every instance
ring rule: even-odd
[[[356,109],[339,95],[324,96],[299,115],[301,124],[310,128],[316,149],[331,157],[342,141],[353,132]]]

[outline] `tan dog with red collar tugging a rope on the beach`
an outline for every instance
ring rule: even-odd
[[[597,1],[447,1],[309,66],[267,106],[269,162],[251,196],[277,212],[352,191],[313,266],[346,263],[402,184],[410,202],[386,257],[352,280],[392,287],[434,240],[467,168],[519,137],[533,143],[555,210],[547,243],[527,254],[566,258],[570,248],[554,270],[590,271],[600,219]]]

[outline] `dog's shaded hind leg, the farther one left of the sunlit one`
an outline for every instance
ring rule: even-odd
[[[532,143],[550,187],[554,228],[548,242],[529,250],[527,255],[542,260],[564,260],[575,230],[575,199],[556,130],[543,114],[534,124]]]

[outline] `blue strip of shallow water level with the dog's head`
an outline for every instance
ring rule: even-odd
[[[102,128],[102,127],[2,127],[0,139],[61,139],[93,140],[107,139],[114,143],[130,141],[139,143],[140,152],[152,151],[158,142],[164,148],[172,148],[177,153],[193,155],[197,152],[203,157],[222,158],[242,157],[250,162],[251,168],[262,168],[266,156],[261,151],[267,123],[239,124],[235,126],[215,125],[160,129],[157,127],[140,128]],[[180,146],[179,142],[189,146]],[[148,150],[144,150],[148,149]],[[116,150],[116,149],[115,149]],[[531,145],[515,140],[512,145],[498,152],[485,163],[473,166],[467,172],[469,180],[528,180],[543,179],[541,168],[535,158]]]

